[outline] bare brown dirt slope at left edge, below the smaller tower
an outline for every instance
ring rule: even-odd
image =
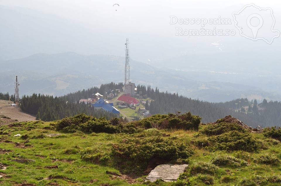
[[[35,116],[22,112],[19,107],[9,105],[11,101],[0,100],[0,115],[11,118],[11,120],[36,121]],[[1,119],[0,119],[1,123]]]

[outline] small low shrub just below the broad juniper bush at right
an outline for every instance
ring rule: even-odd
[[[211,162],[217,166],[227,166],[232,168],[247,165],[246,161],[228,155],[219,155],[213,158]]]

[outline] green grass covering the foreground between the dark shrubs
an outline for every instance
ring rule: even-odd
[[[123,110],[123,109],[122,109]],[[125,109],[135,111],[132,109]],[[22,122],[13,126],[0,126],[0,149],[11,150],[1,154],[0,162],[6,165],[6,170],[0,170],[4,175],[0,178],[0,185],[21,185],[32,183],[34,185],[132,185],[125,177],[114,177],[106,172],[131,176],[136,180],[133,185],[145,185],[143,180],[147,173],[143,167],[138,167],[134,162],[121,160],[117,162],[111,156],[112,145],[122,144],[122,139],[138,138],[140,136],[170,135],[163,137],[175,142],[187,142],[194,152],[188,159],[177,159],[167,163],[186,163],[189,168],[182,180],[177,183],[149,183],[148,185],[279,185],[281,175],[279,161],[281,160],[281,144],[265,137],[263,134],[249,133],[251,137],[261,143],[261,149],[256,152],[242,150],[210,150],[208,147],[198,147],[196,140],[209,136],[201,133],[206,126],[200,126],[199,131],[165,129],[157,132],[156,129],[134,134],[107,134],[107,133],[61,133],[59,136],[47,137],[46,134],[60,133],[52,129],[56,122]],[[51,125],[50,125],[51,124]],[[14,137],[16,134],[27,135],[25,139]],[[43,138],[42,138],[43,137]],[[11,142],[4,142],[5,140]],[[26,140],[30,142],[24,144]],[[16,146],[16,142],[20,142]],[[25,146],[25,148],[21,148]],[[246,162],[245,166],[229,166],[220,164],[215,167],[212,162],[222,155],[233,157]],[[12,159],[34,159],[35,162],[17,163]],[[229,159],[229,158],[228,158]],[[228,160],[227,161],[230,161]],[[236,160],[235,159],[235,160]],[[123,162],[122,162],[123,161]],[[222,161],[226,161],[222,159]],[[120,164],[121,162],[121,164]],[[198,162],[201,162],[198,164]],[[205,163],[202,163],[205,162]],[[58,168],[48,169],[46,166],[57,165]],[[208,171],[203,171],[208,169]],[[192,170],[198,170],[193,173]],[[211,170],[211,171],[210,171]],[[130,174],[133,173],[133,174]],[[197,174],[198,173],[198,174]]]

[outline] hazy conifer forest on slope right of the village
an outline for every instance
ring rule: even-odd
[[[202,122],[205,123],[214,122],[226,115],[232,115],[252,127],[256,127],[258,125],[263,127],[281,125],[281,103],[277,101],[270,101],[265,106],[261,104],[261,110],[257,109],[257,103],[255,101],[253,108],[256,107],[256,112],[251,110],[246,114],[245,112],[235,111],[233,109],[235,108],[235,106],[233,107],[233,105],[235,105],[234,103],[238,103],[240,100],[241,103],[246,104],[246,102],[248,102],[246,99],[233,100],[231,102],[224,103],[210,103],[186,98],[175,93],[171,94],[167,92],[159,92],[157,89],[153,91],[152,94],[154,99],[150,103],[151,114],[190,111],[196,115],[202,116]]]

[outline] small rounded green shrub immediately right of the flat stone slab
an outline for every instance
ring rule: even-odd
[[[218,172],[219,168],[215,166],[214,164],[207,163],[204,161],[199,161],[190,167],[190,174],[196,175],[196,174],[210,174],[215,175]]]

